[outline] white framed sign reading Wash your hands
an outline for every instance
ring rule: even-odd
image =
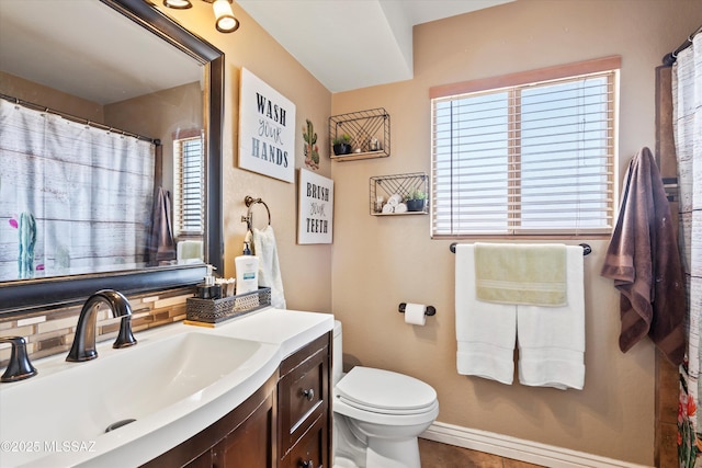
[[[295,104],[241,68],[239,168],[295,182]]]

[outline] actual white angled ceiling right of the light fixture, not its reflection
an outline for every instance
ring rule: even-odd
[[[411,79],[412,26],[510,1],[236,0],[331,92]]]

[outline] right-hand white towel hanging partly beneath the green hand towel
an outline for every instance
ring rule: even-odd
[[[585,385],[585,293],[582,248],[566,248],[568,304],[517,307],[519,381],[523,385],[575,388]]]

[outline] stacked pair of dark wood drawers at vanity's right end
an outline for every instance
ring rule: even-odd
[[[330,336],[320,336],[281,364],[278,383],[281,468],[331,467]]]

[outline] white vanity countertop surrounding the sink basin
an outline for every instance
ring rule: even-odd
[[[185,398],[170,404],[116,431],[95,434],[92,440],[61,438],[60,426],[65,423],[65,418],[63,421],[52,421],[54,412],[50,409],[37,411],[37,408],[30,404],[25,410],[27,418],[36,419],[38,424],[56,425],[55,434],[52,433],[54,434],[52,437],[56,441],[43,441],[42,438],[49,437],[47,435],[37,436],[37,441],[34,441],[31,434],[13,434],[13,421],[0,415],[0,466],[123,468],[144,464],[206,429],[242,403],[273,375],[286,356],[332,329],[333,316],[330,313],[267,308],[231,319],[216,328],[188,326],[179,322],[137,332],[135,336],[138,344],[135,347],[143,346],[144,350],[147,350],[146,346],[149,343],[155,344],[161,340],[190,332],[256,341],[261,343],[261,346],[257,352],[257,358],[247,363],[248,368],[224,375],[215,384],[199,391],[192,398]],[[22,401],[22,395],[31,395],[32,392],[38,395],[38,398],[42,398],[43,395],[56,395],[52,383],[57,381],[56,377],[59,377],[60,373],[77,368],[75,366],[99,366],[101,359],[106,363],[110,356],[118,356],[118,353],[128,352],[128,349],[113,350],[111,346],[111,341],[100,343],[98,345],[99,357],[90,363],[67,363],[64,354],[33,362],[39,374],[27,380],[0,385],[0,406],[13,399]],[[226,358],[224,355],[210,357],[213,359]],[[91,390],[86,388],[84,391],[90,392]],[[124,395],[115,397],[128,398]],[[22,401],[22,403],[27,404],[26,401]],[[60,400],[57,400],[56,404],[60,404]],[[81,409],[73,410],[80,411]],[[36,414],[39,411],[43,414]],[[33,427],[32,424],[29,426]],[[15,438],[22,440],[15,441]],[[56,442],[58,445],[47,446],[46,442]],[[73,444],[68,450],[61,450],[61,444],[66,442],[84,443],[86,445]],[[38,448],[38,450],[27,452],[29,445],[20,444],[33,444],[32,447]],[[18,453],[20,449],[23,452]]]

